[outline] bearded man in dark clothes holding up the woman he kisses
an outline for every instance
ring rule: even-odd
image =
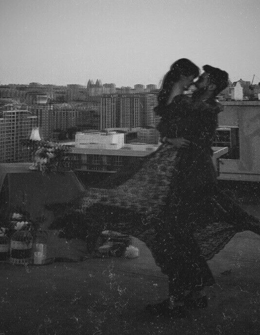
[[[185,113],[183,116],[183,123],[187,122],[186,135],[183,136],[184,138],[164,139],[174,147],[182,149],[180,150],[181,159],[176,166],[178,175],[173,179],[173,186],[170,186],[173,192],[168,197],[165,212],[169,213],[169,225],[173,222],[176,228],[180,228],[177,228],[174,233],[176,235],[174,243],[180,250],[184,250],[184,253],[182,255],[175,251],[175,256],[177,255],[180,260],[176,273],[173,271],[174,266],[168,262],[165,273],[169,276],[170,298],[150,307],[153,312],[158,313],[171,310],[169,300],[177,291],[174,287],[181,287],[180,292],[190,290],[188,298],[183,298],[188,305],[206,307],[207,297],[203,295],[201,288],[214,281],[206,261],[200,256],[200,247],[193,238],[193,230],[211,223],[215,210],[215,203],[211,199],[217,193],[217,180],[210,158],[210,147],[217,127],[217,115],[222,110],[215,97],[227,86],[228,74],[208,65],[203,69],[205,72],[195,83],[197,91],[191,98],[189,112],[191,114]],[[187,148],[187,154],[183,148]],[[169,255],[173,255],[172,258],[174,258],[171,250],[173,247],[167,243],[164,246],[165,258],[169,258]],[[160,262],[160,266],[164,266],[163,256]],[[201,280],[201,286],[195,284],[199,280]]]

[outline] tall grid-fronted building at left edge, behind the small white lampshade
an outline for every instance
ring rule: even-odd
[[[0,162],[30,161],[31,155],[23,141],[36,126],[37,117],[28,110],[8,105],[0,111]]]

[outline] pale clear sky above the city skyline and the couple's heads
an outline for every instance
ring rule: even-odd
[[[260,82],[259,0],[0,0],[0,83],[159,85],[189,58]]]

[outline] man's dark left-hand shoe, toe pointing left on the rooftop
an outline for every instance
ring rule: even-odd
[[[154,316],[165,316],[165,317],[186,317],[186,306],[185,304],[171,305],[169,300],[156,303],[154,305],[147,305],[145,310]]]

